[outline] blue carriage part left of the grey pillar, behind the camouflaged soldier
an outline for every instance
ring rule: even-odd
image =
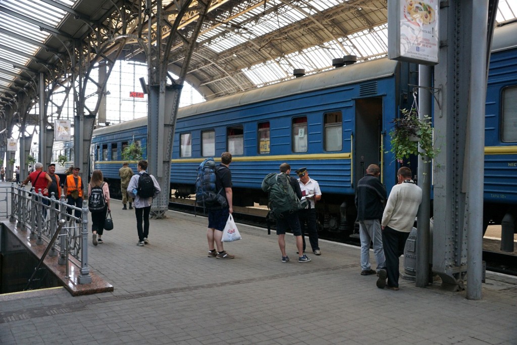
[[[142,148],[142,158],[147,159],[147,117],[124,123],[97,128],[90,146],[90,174],[95,169],[102,171],[104,181],[110,186],[110,195],[121,197],[118,170],[122,167],[122,151],[133,142]],[[136,173],[138,161],[129,161]]]

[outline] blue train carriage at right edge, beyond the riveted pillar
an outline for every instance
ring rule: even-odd
[[[517,23],[494,34],[486,91],[483,231],[517,229]]]

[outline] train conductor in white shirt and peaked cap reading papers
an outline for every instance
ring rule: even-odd
[[[301,196],[312,196],[308,198],[309,201],[305,209],[298,211],[298,219],[300,220],[301,238],[303,242],[303,252],[305,252],[305,232],[309,233],[309,243],[311,244],[312,252],[315,255],[321,255],[320,246],[318,246],[318,230],[316,224],[316,201],[322,198],[320,185],[315,179],[309,177],[307,168],[300,168],[296,170],[298,175],[298,183],[300,184]]]

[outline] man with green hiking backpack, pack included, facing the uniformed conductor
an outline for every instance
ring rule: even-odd
[[[262,182],[262,189],[269,193],[269,206],[277,218],[278,245],[282,252],[281,261],[289,261],[285,251],[285,232],[287,229],[291,229],[293,235],[296,236],[298,262],[309,262],[311,259],[303,254],[303,239],[298,219],[298,209],[301,207],[299,202],[301,189],[298,180],[289,176],[290,173],[291,166],[289,164],[280,164],[280,174],[268,174]]]

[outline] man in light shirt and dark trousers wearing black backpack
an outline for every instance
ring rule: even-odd
[[[143,247],[144,244],[149,244],[147,237],[149,236],[149,213],[151,211],[151,204],[153,204],[153,198],[156,194],[161,192],[161,188],[155,176],[149,175],[146,172],[146,160],[139,161],[136,170],[138,174],[131,177],[127,192],[134,200],[136,231],[138,231],[138,243],[136,243],[136,245]],[[142,222],[144,223],[143,228]]]

